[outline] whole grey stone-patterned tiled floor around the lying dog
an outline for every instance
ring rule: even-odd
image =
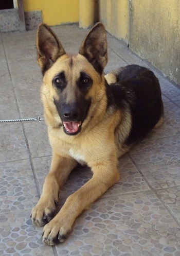
[[[67,51],[77,52],[86,30],[53,29]],[[0,120],[43,118],[35,32],[0,34]],[[107,39],[106,72],[130,63],[148,66],[115,38]],[[43,228],[30,220],[51,160],[45,123],[0,123],[0,255],[180,255],[180,90],[154,72],[163,92],[163,126],[119,160],[120,182],[77,218],[73,234],[56,247],[42,244]],[[88,168],[75,169],[61,203],[91,175]]]

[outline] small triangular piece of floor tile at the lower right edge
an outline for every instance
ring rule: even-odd
[[[168,207],[172,215],[178,220],[180,225],[180,186],[178,185],[164,190],[158,190],[157,195]]]

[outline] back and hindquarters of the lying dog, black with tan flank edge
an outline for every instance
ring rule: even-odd
[[[120,67],[105,78],[110,84],[107,86],[109,102],[114,101],[123,113],[116,129],[121,155],[163,121],[160,86],[154,73],[139,65]]]

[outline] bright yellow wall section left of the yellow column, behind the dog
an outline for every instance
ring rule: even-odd
[[[79,0],[24,0],[25,11],[42,11],[48,25],[79,21]]]

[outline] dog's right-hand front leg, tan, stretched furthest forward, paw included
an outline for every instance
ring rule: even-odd
[[[119,173],[114,163],[107,164],[105,161],[94,166],[92,170],[94,174],[91,180],[70,195],[60,212],[45,225],[43,243],[56,245],[64,242],[77,216],[119,181]]]

